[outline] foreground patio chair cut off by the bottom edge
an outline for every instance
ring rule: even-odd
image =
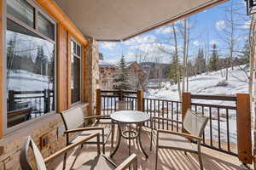
[[[95,139],[97,141],[97,156],[95,159],[85,162],[81,167],[77,168],[79,170],[125,170],[127,167],[133,167],[133,169],[137,169],[137,155],[133,154],[129,156],[123,163],[117,166],[113,161],[108,159],[106,156],[100,153],[100,133],[93,133],[83,139],[79,140],[76,143],[70,144],[67,147],[63,148],[55,152],[55,154],[47,157],[46,159],[38,150],[37,145],[33,142],[32,138],[28,136],[26,138],[26,142],[23,145],[20,152],[20,166],[22,170],[32,170],[31,165],[29,164],[29,160],[31,160],[31,156],[28,156],[28,150],[31,148],[33,157],[36,161],[36,166],[38,170],[46,170],[46,164],[50,161],[54,161],[57,156],[61,156],[63,153],[67,153],[68,150],[72,150],[74,147],[84,144],[84,142]],[[30,157],[30,159],[28,159]]]

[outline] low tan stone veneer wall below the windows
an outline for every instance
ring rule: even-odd
[[[76,106],[82,107],[84,115],[86,115],[87,104],[81,103]],[[52,113],[41,117],[38,122],[32,122],[26,127],[22,127],[22,131],[18,130],[5,136],[0,141],[0,170],[20,169],[20,149],[24,144],[26,136],[31,136],[39,148],[40,137],[45,133],[49,133],[49,144],[41,150],[45,158],[66,146],[64,131],[65,127],[61,115]],[[32,156],[29,156],[29,158],[32,158]],[[32,161],[31,163],[35,165],[35,162]],[[47,167],[51,167],[51,163]]]

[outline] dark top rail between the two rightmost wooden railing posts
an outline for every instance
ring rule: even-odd
[[[236,101],[236,96],[224,96],[224,95],[201,95],[191,94],[191,99],[209,99],[209,100],[224,100],[224,101]]]

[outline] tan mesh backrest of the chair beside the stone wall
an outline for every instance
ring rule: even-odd
[[[61,117],[66,130],[77,128],[84,124],[84,112],[81,107],[74,107],[67,111],[62,111]]]

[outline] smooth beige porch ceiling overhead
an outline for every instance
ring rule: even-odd
[[[96,40],[125,40],[226,0],[55,0],[75,26]]]

